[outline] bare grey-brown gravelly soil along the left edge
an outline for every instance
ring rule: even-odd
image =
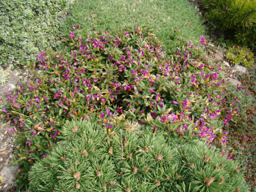
[[[8,92],[12,93],[15,87],[23,80],[31,78],[29,72],[23,70],[13,70],[5,84],[0,84],[0,103],[8,97]],[[0,191],[15,191],[15,176],[19,172],[18,166],[14,167],[13,158],[15,156],[15,135],[19,127],[9,119],[0,121]]]

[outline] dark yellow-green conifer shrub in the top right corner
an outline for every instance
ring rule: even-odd
[[[222,30],[234,31],[241,44],[255,46],[256,2],[254,0],[202,0],[206,17]]]

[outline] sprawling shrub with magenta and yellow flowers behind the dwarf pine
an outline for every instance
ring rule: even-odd
[[[108,132],[130,119],[151,125],[155,134],[225,144],[221,128],[238,111],[220,109],[225,80],[221,67],[203,55],[203,36],[199,48],[187,42],[168,55],[148,29],[94,37],[78,37],[78,31],[73,27],[70,38],[62,38],[66,46],[58,52],[38,54],[41,72],[8,93],[0,112],[24,129],[19,141],[26,145],[18,154],[25,167],[51,150],[71,118],[92,119]]]

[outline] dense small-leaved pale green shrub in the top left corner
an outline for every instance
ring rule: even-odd
[[[68,0],[2,0],[0,65],[27,65],[47,47],[59,45],[61,14]]]

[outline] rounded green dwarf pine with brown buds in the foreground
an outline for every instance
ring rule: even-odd
[[[32,166],[30,191],[249,191],[216,147],[148,128],[68,121],[64,140]]]

